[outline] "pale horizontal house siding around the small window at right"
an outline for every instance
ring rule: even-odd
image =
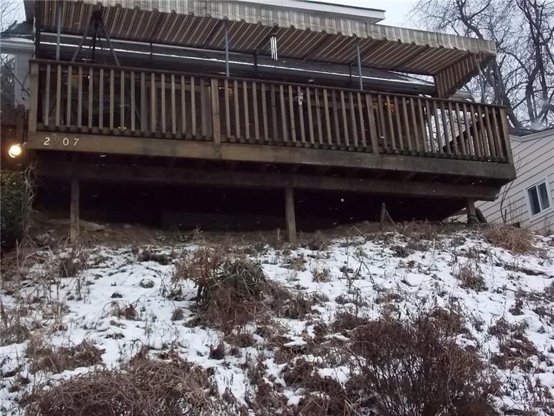
[[[519,223],[536,232],[554,232],[554,129],[511,137],[511,144],[517,179],[502,188],[496,201],[476,206],[489,223]],[[527,189],[545,179],[551,207],[531,218]]]

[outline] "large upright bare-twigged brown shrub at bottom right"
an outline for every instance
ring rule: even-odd
[[[384,316],[350,337],[361,370],[347,383],[350,402],[375,397],[385,416],[497,414],[485,365],[431,314]]]

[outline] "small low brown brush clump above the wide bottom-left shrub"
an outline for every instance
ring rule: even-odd
[[[30,361],[30,372],[50,371],[59,373],[64,370],[75,370],[77,367],[90,367],[102,363],[102,353],[88,340],[78,345],[54,348],[46,345],[43,339],[33,338],[29,341],[26,354]]]

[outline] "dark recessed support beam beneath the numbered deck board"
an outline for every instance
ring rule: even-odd
[[[499,187],[476,184],[448,184],[390,179],[305,175],[251,171],[207,170],[168,166],[130,166],[91,162],[56,162],[37,158],[35,172],[44,177],[76,177],[84,181],[169,183],[193,186],[220,186],[267,189],[316,189],[350,191],[394,196],[431,198],[473,198],[494,200]]]

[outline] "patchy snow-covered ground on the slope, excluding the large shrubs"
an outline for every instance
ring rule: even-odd
[[[100,365],[107,368],[126,363],[144,346],[152,356],[175,349],[186,361],[211,369],[220,395],[231,393],[246,409],[256,389],[249,368],[262,362],[263,380],[294,408],[305,392],[283,377],[289,363],[282,353],[295,351],[314,361],[303,346],[314,340],[321,322],[329,324],[345,311],[377,318],[384,309],[393,309],[405,317],[429,305],[451,308],[455,304],[467,328],[460,343],[479,345],[485,360],[496,365],[501,385],[494,401],[501,413],[551,415],[537,395],[554,395],[554,236],[536,236],[533,254],[494,247],[476,231],[435,237],[411,239],[389,232],[336,239],[322,250],[310,250],[315,248],[312,245],[235,248],[260,262],[268,279],[315,302],[312,313],[302,319],[276,318],[280,343],[260,335],[257,322],[237,328],[251,334],[251,342],[245,345],[231,345],[219,329],[199,324],[195,284],[172,281],[175,261],[184,252],[196,250],[199,243],[138,250],[130,245],[96,245],[80,252],[75,263],[81,265],[74,277],[53,272],[60,270],[60,259],[68,257],[70,249],[39,251],[26,278],[5,281],[0,292],[3,315],[19,314],[20,322],[30,329],[23,338],[14,339],[21,342],[0,346],[0,413],[20,414],[18,401],[25,392],[92,368],[59,374],[32,372],[26,354],[28,338],[39,336],[54,346],[89,340],[102,351]],[[141,250],[159,256],[140,261]],[[180,295],[171,296],[178,289]],[[182,316],[176,311],[182,311]],[[9,319],[3,317],[4,329]],[[499,322],[519,328],[524,336],[513,340],[515,344],[506,343],[510,330],[499,333]],[[326,337],[337,343],[348,340],[345,333]],[[526,340],[533,348],[520,357],[517,343]],[[224,355],[211,354],[221,343]],[[521,358],[518,365],[501,365],[509,351]],[[341,383],[350,376],[346,365],[321,363],[318,371],[322,378]],[[537,407],[537,403],[542,404]]]

